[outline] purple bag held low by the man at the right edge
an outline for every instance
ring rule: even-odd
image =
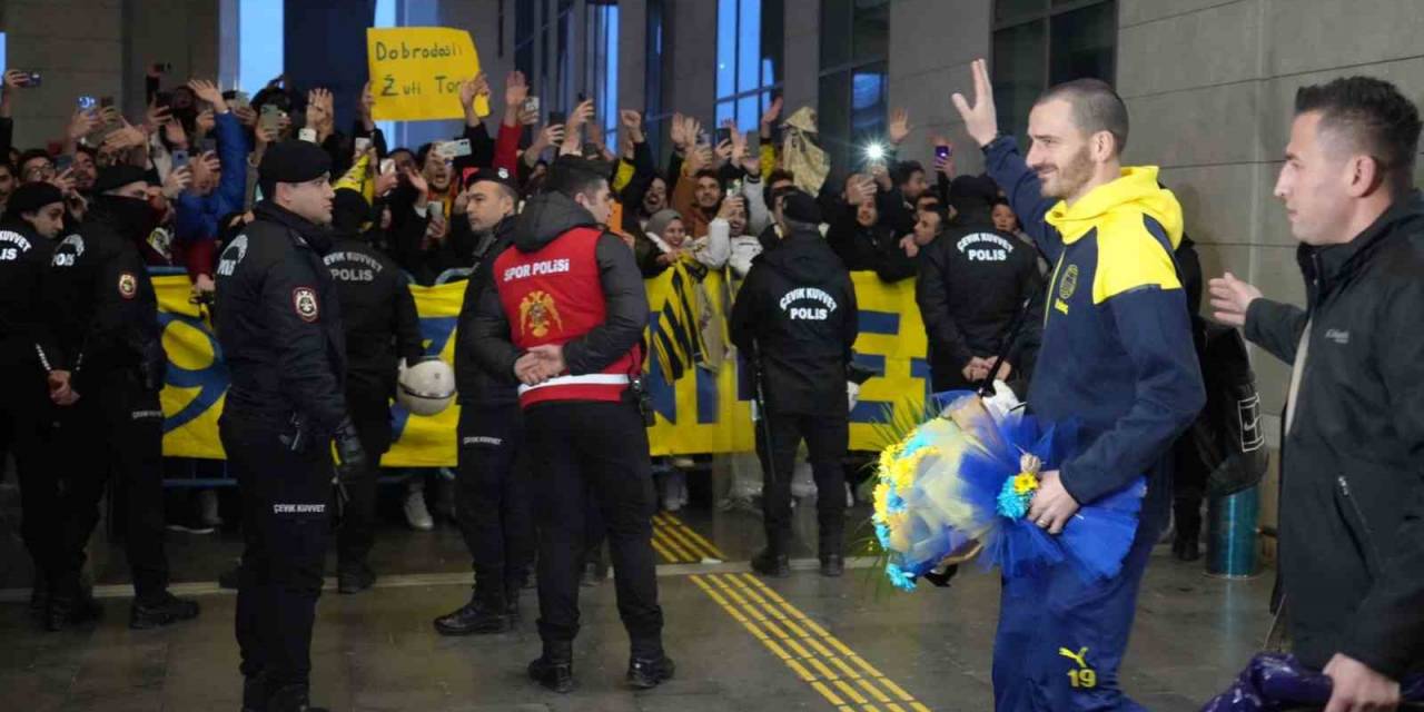
[[[1294,655],[1263,652],[1252,658],[1236,682],[1215,696],[1202,712],[1284,712],[1324,708],[1331,682],[1323,672],[1300,664]],[[1405,708],[1424,705],[1424,675],[1400,684]]]

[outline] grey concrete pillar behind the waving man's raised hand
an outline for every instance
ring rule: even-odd
[[[983,155],[964,132],[950,95],[974,91],[970,63],[988,57],[993,10],[993,0],[890,3],[889,105],[909,110],[913,128],[900,145],[901,159],[934,165],[930,135],[943,134],[954,142],[958,172],[983,168]]]

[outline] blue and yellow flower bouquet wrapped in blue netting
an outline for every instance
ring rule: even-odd
[[[880,453],[876,538],[886,575],[901,590],[946,562],[978,555],[1007,577],[1058,564],[1111,578],[1136,534],[1145,478],[1082,507],[1052,535],[1025,520],[1040,473],[1072,454],[1077,427],[1045,426],[1020,410],[991,414],[965,394]]]

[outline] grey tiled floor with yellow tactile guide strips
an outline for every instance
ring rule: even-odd
[[[232,534],[169,535],[174,578],[194,584],[179,588],[198,592],[204,612],[194,622],[144,632],[125,627],[127,587],[103,588],[122,584],[125,565],[97,537],[95,580],[112,595],[104,601],[105,618],[43,634],[23,604],[28,564],[14,533],[14,500],[13,490],[0,487],[0,598],[9,601],[0,602],[0,709],[238,708],[234,597],[212,585],[238,554]],[[852,521],[863,515],[857,511]],[[810,520],[797,517],[803,541]],[[968,572],[950,590],[914,594],[884,590],[864,568],[840,580],[799,570],[762,582],[739,564],[760,544],[759,518],[709,504],[661,518],[659,535],[688,554],[665,547],[671,557],[659,570],[666,645],[678,661],[676,679],[662,688],[634,693],[622,684],[627,637],[611,582],[584,588],[572,695],[547,693],[524,678],[525,661],[538,652],[533,591],[515,632],[436,635],[431,618],[468,595],[468,555],[449,524],[413,533],[390,521],[373,554],[383,575],[377,588],[350,597],[329,591],[320,601],[313,698],[337,711],[424,712],[991,708],[993,575]],[[693,557],[729,562],[671,561]],[[1159,553],[1122,671],[1126,689],[1153,711],[1198,709],[1265,635],[1269,592],[1269,575],[1213,580],[1200,565]]]

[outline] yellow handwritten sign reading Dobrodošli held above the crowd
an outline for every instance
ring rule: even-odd
[[[470,33],[449,27],[370,27],[366,63],[376,121],[463,118],[460,83],[480,71]],[[477,97],[474,110],[488,115],[488,97]]]

